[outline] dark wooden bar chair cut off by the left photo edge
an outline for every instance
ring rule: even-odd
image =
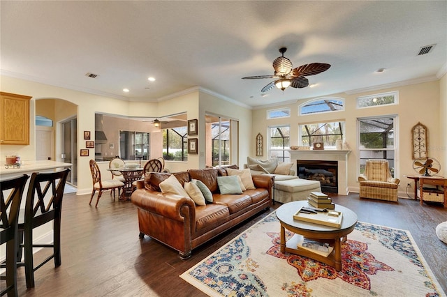
[[[6,243],[6,259],[2,268],[6,268],[6,288],[0,296],[18,296],[17,294],[17,224],[20,201],[29,176],[26,174],[0,182],[0,244]],[[3,279],[3,277],[2,277]]]

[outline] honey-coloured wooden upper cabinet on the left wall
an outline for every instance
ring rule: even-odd
[[[30,96],[0,92],[0,144],[29,145]]]

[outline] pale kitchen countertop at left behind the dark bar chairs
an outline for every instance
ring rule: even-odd
[[[17,176],[21,176],[22,174],[29,174],[33,172],[54,172],[58,169],[70,168],[71,163],[65,162],[57,162],[51,160],[43,160],[43,161],[24,161],[24,164],[20,166],[20,168],[9,166],[9,168],[5,168],[5,164],[3,163],[0,167],[0,180],[7,178],[14,178]]]

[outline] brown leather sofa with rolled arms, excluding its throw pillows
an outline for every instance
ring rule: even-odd
[[[272,204],[273,178],[252,176],[256,189],[240,195],[221,195],[217,176],[226,176],[226,169],[190,169],[174,176],[184,185],[191,178],[205,183],[213,196],[212,204],[197,206],[190,197],[162,193],[159,183],[170,174],[149,173],[132,194],[138,206],[140,238],[150,236],[179,252],[182,259],[191,257],[191,250],[209,241]]]

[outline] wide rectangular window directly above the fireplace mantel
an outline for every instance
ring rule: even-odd
[[[302,124],[299,129],[302,146],[323,142],[325,148],[335,148],[337,139],[343,139],[344,122]]]

